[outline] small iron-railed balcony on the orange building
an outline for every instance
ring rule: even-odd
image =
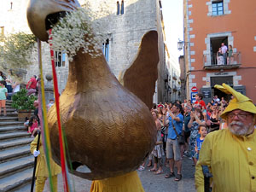
[[[204,69],[215,70],[215,69],[234,69],[241,66],[241,53],[233,53],[227,64],[224,64],[222,58],[218,58],[217,54],[204,54],[203,55]]]

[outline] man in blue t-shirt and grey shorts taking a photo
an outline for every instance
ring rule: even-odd
[[[177,175],[175,181],[182,179],[182,160],[180,155],[180,147],[177,142],[177,134],[180,135],[183,130],[183,114],[181,105],[174,103],[172,110],[167,108],[169,112],[168,119],[164,118],[164,124],[169,124],[168,137],[166,143],[166,157],[169,160],[170,173],[166,174],[166,178],[175,177],[174,174],[174,163],[177,164]],[[164,113],[166,115],[166,113]],[[177,133],[176,133],[177,131]]]

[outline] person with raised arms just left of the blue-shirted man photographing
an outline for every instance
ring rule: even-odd
[[[163,149],[163,143],[161,138],[161,124],[160,119],[157,117],[157,113],[154,111],[152,112],[152,116],[154,118],[154,123],[156,125],[157,129],[157,135],[156,135],[156,143],[154,146],[154,149],[152,151],[152,154],[154,156],[154,167],[150,169],[150,172],[154,172],[154,174],[159,175],[163,173],[163,159],[162,156],[164,155],[164,149]],[[159,168],[157,168],[159,164]]]

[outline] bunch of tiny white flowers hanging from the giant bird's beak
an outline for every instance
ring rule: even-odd
[[[58,23],[53,26],[49,35],[49,43],[55,51],[65,51],[69,61],[73,61],[73,56],[82,49],[84,53],[91,56],[102,54],[101,46],[103,35],[102,25],[97,22],[98,15],[88,7],[79,8],[76,11],[67,13]]]

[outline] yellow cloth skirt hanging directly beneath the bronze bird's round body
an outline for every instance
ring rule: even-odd
[[[93,181],[90,192],[144,192],[137,172]]]

